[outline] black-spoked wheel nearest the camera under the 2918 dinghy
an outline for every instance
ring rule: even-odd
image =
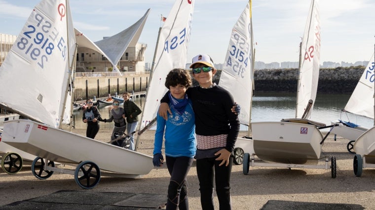
[[[99,166],[91,161],[83,161],[75,168],[75,183],[83,189],[92,189],[99,183]]]

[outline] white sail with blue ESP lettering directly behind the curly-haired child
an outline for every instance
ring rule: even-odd
[[[141,127],[156,117],[160,99],[167,91],[164,83],[168,72],[174,68],[185,68],[193,9],[194,1],[176,0],[160,30]]]

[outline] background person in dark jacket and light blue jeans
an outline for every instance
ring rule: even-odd
[[[130,93],[124,92],[122,93],[122,97],[124,98],[124,110],[125,110],[125,117],[126,122],[128,123],[127,129],[128,134],[130,134],[130,148],[129,150],[135,150],[134,146],[134,135],[131,135],[138,125],[138,115],[142,113],[142,110],[130,100]]]

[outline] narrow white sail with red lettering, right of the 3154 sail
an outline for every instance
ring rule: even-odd
[[[299,83],[297,87],[296,118],[301,118],[308,101],[313,104],[305,119],[309,119],[318,89],[320,62],[320,17],[319,1],[312,0],[301,42]]]

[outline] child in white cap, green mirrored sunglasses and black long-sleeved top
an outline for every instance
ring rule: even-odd
[[[213,83],[216,68],[210,56],[195,56],[190,68],[199,83],[186,93],[195,113],[195,159],[202,210],[214,210],[214,177],[220,210],[231,210],[230,173],[240,128],[237,114],[230,111],[235,104],[233,96]],[[170,112],[168,95],[160,102],[159,115],[166,119],[167,111]]]

